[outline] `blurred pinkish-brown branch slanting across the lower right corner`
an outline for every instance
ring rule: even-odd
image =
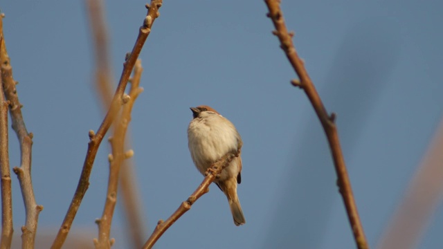
[[[416,248],[442,198],[443,120],[378,248]]]

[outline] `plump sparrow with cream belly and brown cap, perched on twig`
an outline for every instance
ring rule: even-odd
[[[188,127],[188,147],[191,158],[201,174],[228,153],[237,153],[242,137],[234,124],[215,109],[201,105],[190,107],[193,119]],[[235,225],[246,221],[237,196],[237,183],[242,182],[242,158],[235,157],[214,181],[228,198]]]

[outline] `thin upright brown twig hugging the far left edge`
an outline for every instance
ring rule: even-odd
[[[3,36],[0,36],[0,50],[2,44]],[[8,149],[8,106],[9,103],[6,101],[5,93],[3,92],[3,82],[0,77],[1,249],[11,247],[12,234],[14,233]]]

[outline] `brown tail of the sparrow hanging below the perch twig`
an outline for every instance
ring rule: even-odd
[[[233,214],[235,225],[243,225],[246,220],[243,216],[242,206],[237,196],[237,179],[231,178],[223,183],[219,183],[221,190],[228,198],[230,212]]]

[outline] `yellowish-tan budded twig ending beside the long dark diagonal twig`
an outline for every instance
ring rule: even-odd
[[[127,102],[123,106],[120,118],[118,119],[116,129],[114,130],[114,136],[110,139],[112,154],[109,155],[110,165],[107,199],[105,201],[102,217],[96,221],[98,224],[98,239],[94,239],[96,248],[110,248],[111,244],[114,243],[114,239],[109,239],[109,234],[111,232],[111,223],[117,202],[120,167],[123,160],[132,156],[133,153],[132,151],[129,151],[129,153],[125,154],[125,136],[127,127],[131,121],[132,107],[134,107],[134,102],[138,95],[143,91],[143,88],[139,87],[142,71],[141,60],[138,59],[134,67],[134,77],[131,80],[132,84],[129,95],[125,95]]]

